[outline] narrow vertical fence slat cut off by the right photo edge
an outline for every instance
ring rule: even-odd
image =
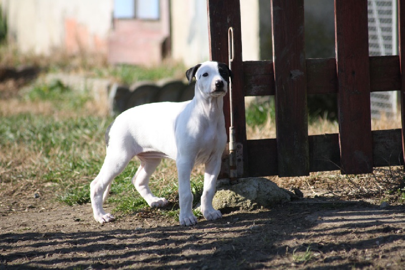
[[[402,156],[405,160],[405,4],[398,0],[398,55],[401,74]],[[405,168],[405,165],[404,165]]]

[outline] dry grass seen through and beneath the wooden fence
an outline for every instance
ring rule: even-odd
[[[395,129],[401,127],[400,115],[372,120],[372,130]],[[326,119],[312,119],[308,134],[338,133],[339,125]],[[248,126],[249,140],[276,138],[275,122],[270,117],[262,125]],[[402,167],[375,168],[372,174],[344,175],[340,171],[311,172],[309,176],[267,177],[279,187],[298,188],[309,197],[333,196],[346,199],[374,198],[377,201],[403,203],[405,201],[405,172]]]

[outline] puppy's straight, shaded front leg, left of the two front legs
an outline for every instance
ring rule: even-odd
[[[179,176],[179,204],[180,204],[180,225],[191,226],[197,223],[197,218],[193,214],[193,194],[191,193],[190,174],[193,163],[188,158],[178,158],[176,160],[177,172]]]

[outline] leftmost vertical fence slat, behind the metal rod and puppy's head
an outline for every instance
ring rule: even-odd
[[[234,60],[232,62],[232,100],[236,143],[246,150],[246,115],[244,94],[244,72],[242,61],[242,37],[239,0],[208,0],[208,29],[210,59],[228,64],[228,29],[234,32]],[[224,115],[226,132],[229,138],[230,106],[229,94],[224,97]],[[247,151],[244,151],[244,163],[247,163]],[[245,168],[248,166],[245,164]],[[225,175],[222,175],[225,176]],[[238,175],[239,176],[239,175]],[[242,175],[240,175],[242,176]]]

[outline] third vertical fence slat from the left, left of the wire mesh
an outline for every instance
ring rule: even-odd
[[[367,1],[335,0],[342,173],[373,171]]]

